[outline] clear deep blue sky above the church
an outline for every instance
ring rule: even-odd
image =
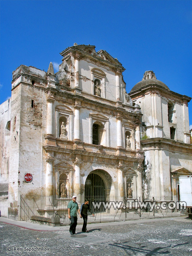
[[[90,44],[126,68],[126,90],[153,70],[170,90],[192,97],[192,1],[0,1],[0,103],[19,65],[57,71],[68,46]],[[192,125],[192,100],[189,103]]]

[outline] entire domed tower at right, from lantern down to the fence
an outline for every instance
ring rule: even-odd
[[[142,111],[141,145],[145,154],[146,195],[178,196],[178,176],[192,170],[188,102],[146,71],[131,89]],[[185,153],[185,154],[182,154]],[[184,168],[184,169],[183,169]],[[185,175],[187,175],[185,173]]]

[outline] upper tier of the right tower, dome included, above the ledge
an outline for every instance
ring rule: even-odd
[[[129,95],[143,113],[143,138],[167,138],[190,143],[188,102],[191,98],[169,90],[153,71],[144,72]]]

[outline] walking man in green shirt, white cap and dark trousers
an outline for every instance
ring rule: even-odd
[[[72,197],[72,201],[70,201],[68,203],[67,208],[68,208],[68,217],[71,221],[69,232],[70,232],[71,235],[74,235],[75,230],[76,230],[76,226],[77,226],[77,210],[78,210],[79,215],[81,217],[79,206],[78,206],[78,203],[76,202],[76,196]]]

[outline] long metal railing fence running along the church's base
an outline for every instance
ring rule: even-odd
[[[48,225],[68,225],[68,203],[72,199],[57,198],[48,195],[21,195],[20,220],[47,223]],[[79,208],[84,203],[84,197],[78,196],[76,202]],[[118,197],[107,196],[106,200],[99,197],[89,198],[90,208],[94,213],[88,213],[88,223],[120,221],[142,218],[160,218],[186,215],[185,204],[177,202],[176,197],[151,196]],[[78,221],[83,219],[79,217]]]

